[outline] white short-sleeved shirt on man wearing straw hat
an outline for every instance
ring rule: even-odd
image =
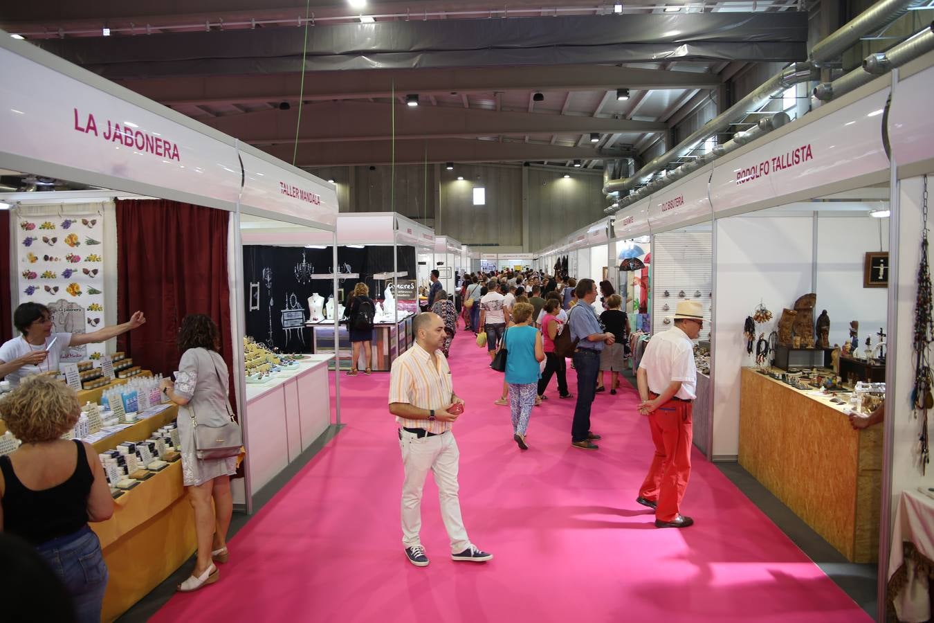
[[[698,370],[694,364],[694,343],[677,327],[652,336],[639,367],[648,376],[648,389],[662,394],[672,381],[681,381],[676,398],[697,398]]]

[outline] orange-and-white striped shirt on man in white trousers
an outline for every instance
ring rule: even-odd
[[[432,357],[437,362],[435,368]],[[439,411],[451,404],[454,390],[451,385],[451,369],[440,350],[433,355],[416,343],[392,362],[389,372],[389,404],[404,403],[421,409]],[[450,422],[428,419],[406,419],[396,417],[403,428],[425,429],[428,432],[451,430]]]

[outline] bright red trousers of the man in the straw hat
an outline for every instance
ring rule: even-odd
[[[652,398],[656,398],[655,395]],[[658,503],[655,517],[678,517],[691,474],[691,403],[669,401],[648,416],[655,457],[639,495]]]

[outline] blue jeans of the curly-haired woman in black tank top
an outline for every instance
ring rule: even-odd
[[[100,623],[107,588],[107,566],[97,535],[81,530],[37,545],[35,550],[62,579],[75,606],[79,623]]]

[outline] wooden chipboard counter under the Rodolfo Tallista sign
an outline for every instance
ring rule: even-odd
[[[842,405],[744,368],[743,468],[852,562],[879,556],[883,427],[856,431]]]

